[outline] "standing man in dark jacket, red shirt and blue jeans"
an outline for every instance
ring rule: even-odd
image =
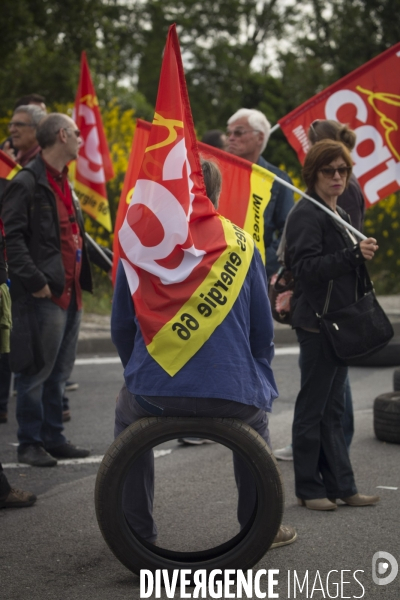
[[[62,395],[75,360],[81,290],[92,291],[92,279],[82,215],[67,181],[80,132],[70,117],[52,113],[37,139],[42,153],[11,181],[2,219],[14,325],[25,312],[34,331],[35,364],[21,368],[18,381],[18,460],[46,467],[89,454],[63,435]],[[11,345],[11,356],[21,352]]]

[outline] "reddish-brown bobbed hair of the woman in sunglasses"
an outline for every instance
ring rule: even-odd
[[[310,192],[315,189],[315,183],[318,177],[318,171],[322,167],[327,167],[333,160],[343,158],[348,167],[353,167],[350,152],[348,148],[333,140],[322,140],[311,146],[307,152],[303,165],[303,179]],[[351,171],[347,175],[346,187],[349,182]]]

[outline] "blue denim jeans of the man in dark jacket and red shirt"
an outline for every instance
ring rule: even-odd
[[[67,310],[48,298],[34,298],[34,306],[45,365],[36,375],[21,373],[18,379],[18,441],[54,448],[66,442],[62,398],[74,366],[82,311],[75,298]]]

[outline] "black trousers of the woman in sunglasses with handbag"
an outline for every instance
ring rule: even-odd
[[[296,329],[301,389],[293,420],[298,498],[342,498],[357,493],[343,433],[347,367],[335,364],[320,333]]]

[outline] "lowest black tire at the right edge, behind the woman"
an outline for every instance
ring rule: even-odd
[[[400,392],[375,398],[374,431],[378,440],[400,444]]]

